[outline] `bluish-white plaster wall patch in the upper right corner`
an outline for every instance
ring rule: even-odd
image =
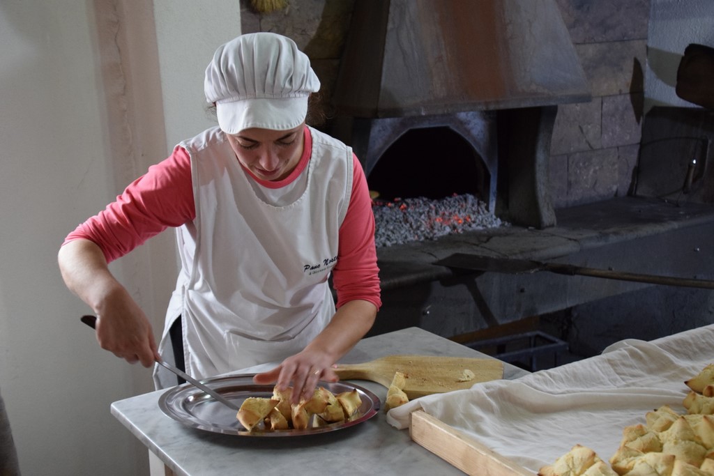
[[[645,112],[652,106],[699,107],[675,93],[677,69],[688,44],[714,46],[714,2],[650,1]]]

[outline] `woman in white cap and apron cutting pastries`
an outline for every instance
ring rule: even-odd
[[[319,87],[284,36],[218,48],[204,82],[218,127],[181,142],[60,249],[66,284],[99,317],[102,348],[146,367],[183,360],[195,378],[276,362],[254,380],[293,385],[296,401],[337,379],[331,365],[371,328],[381,300],[361,166],[305,125]],[[181,271],[157,348],[107,263],[167,227],[178,228]],[[157,388],[171,385],[156,367]]]

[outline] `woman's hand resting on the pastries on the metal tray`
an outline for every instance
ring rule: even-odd
[[[286,358],[273,370],[258,373],[253,382],[258,385],[275,383],[278,390],[293,387],[293,403],[312,397],[318,381],[337,382],[340,380],[332,369],[333,361],[324,353],[303,350]]]

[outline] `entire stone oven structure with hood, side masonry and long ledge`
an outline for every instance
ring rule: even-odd
[[[244,32],[287,34],[311,56],[334,106],[326,129],[353,146],[371,188],[473,193],[513,223],[378,249],[371,334],[418,326],[465,341],[546,323],[592,355],[712,322],[705,290],[439,264],[473,253],[714,278],[714,116],[645,116],[649,1],[294,0],[264,15],[242,4]]]

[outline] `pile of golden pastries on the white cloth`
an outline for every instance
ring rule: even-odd
[[[645,425],[625,427],[610,465],[590,448],[575,445],[538,475],[714,475],[714,364],[685,384],[690,388],[683,401],[687,414],[663,405],[645,415]]]

